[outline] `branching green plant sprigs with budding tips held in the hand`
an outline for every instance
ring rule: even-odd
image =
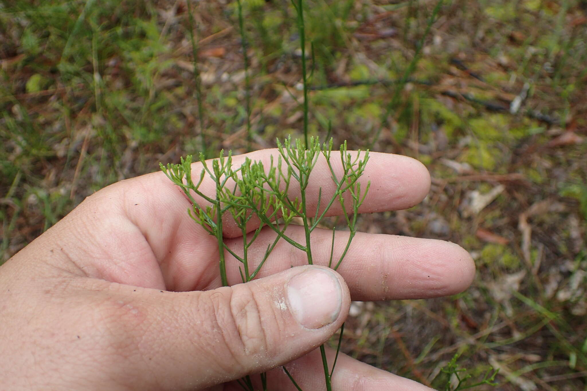
[[[220,254],[220,276],[223,285],[228,285],[224,259],[225,251],[228,251],[242,264],[239,271],[243,283],[251,281],[257,276],[279,240],[285,240],[285,242],[297,249],[304,251],[308,264],[312,264],[312,231],[318,227],[335,202],[340,204],[343,217],[350,230],[346,247],[338,259],[333,259],[335,230],[333,229],[332,231],[332,247],[328,266],[335,270],[340,266],[356,234],[359,207],[365,200],[367,191],[369,191],[369,183],[362,189],[359,182],[359,178],[365,171],[365,166],[369,160],[369,151],[363,153],[359,151],[353,156],[347,151],[346,142],[343,143],[340,146],[342,173],[337,174],[337,170],[332,165],[332,144],[332,139],[328,143],[321,144],[317,138],[313,137],[309,138],[308,144],[302,140],[292,142],[291,138],[286,139],[283,144],[277,140],[279,155],[276,158],[271,158],[269,166],[265,166],[261,161],[252,161],[245,158],[244,163],[235,168],[232,164],[231,152],[228,152],[228,156],[225,156],[224,151],[221,151],[219,157],[211,162],[207,162],[205,155],[201,153],[199,160],[202,169],[199,174],[196,173],[195,175],[192,174],[193,157],[190,155],[185,159],[181,158],[180,164],[160,165],[167,177],[177,186],[180,186],[185,195],[191,200],[192,205],[188,209],[190,217],[204,227],[208,233],[216,237],[218,253]],[[321,156],[325,159],[330,171],[330,178],[336,188],[332,196],[326,199],[325,202],[322,199],[321,188],[318,193],[316,209],[310,209],[308,199],[306,199],[306,189],[308,188],[312,170]],[[200,191],[200,185],[207,180],[206,176],[215,183],[214,195]],[[197,182],[194,182],[194,180]],[[290,191],[293,190],[294,186],[298,187],[299,196],[292,197],[290,195]],[[203,202],[198,202],[194,195],[203,199]],[[346,198],[350,198],[350,208],[349,200],[345,200]],[[224,244],[223,218],[227,213],[241,229],[242,256],[239,256]],[[258,218],[262,224],[254,230],[252,235],[247,235],[247,227],[254,217]],[[301,220],[303,225],[305,232],[303,242],[298,242],[288,236],[287,228],[294,222],[294,218]],[[274,230],[277,236],[275,241],[267,246],[259,266],[251,270],[248,264],[248,249],[255,242],[264,226]],[[334,365],[332,371],[329,370],[325,349],[323,346],[320,349],[326,389],[331,390],[330,377],[332,376]],[[340,341],[337,355],[339,349]],[[334,363],[336,363],[336,360]],[[265,375],[262,375],[262,382],[266,383]],[[241,386],[252,391],[250,379],[242,379]]]

